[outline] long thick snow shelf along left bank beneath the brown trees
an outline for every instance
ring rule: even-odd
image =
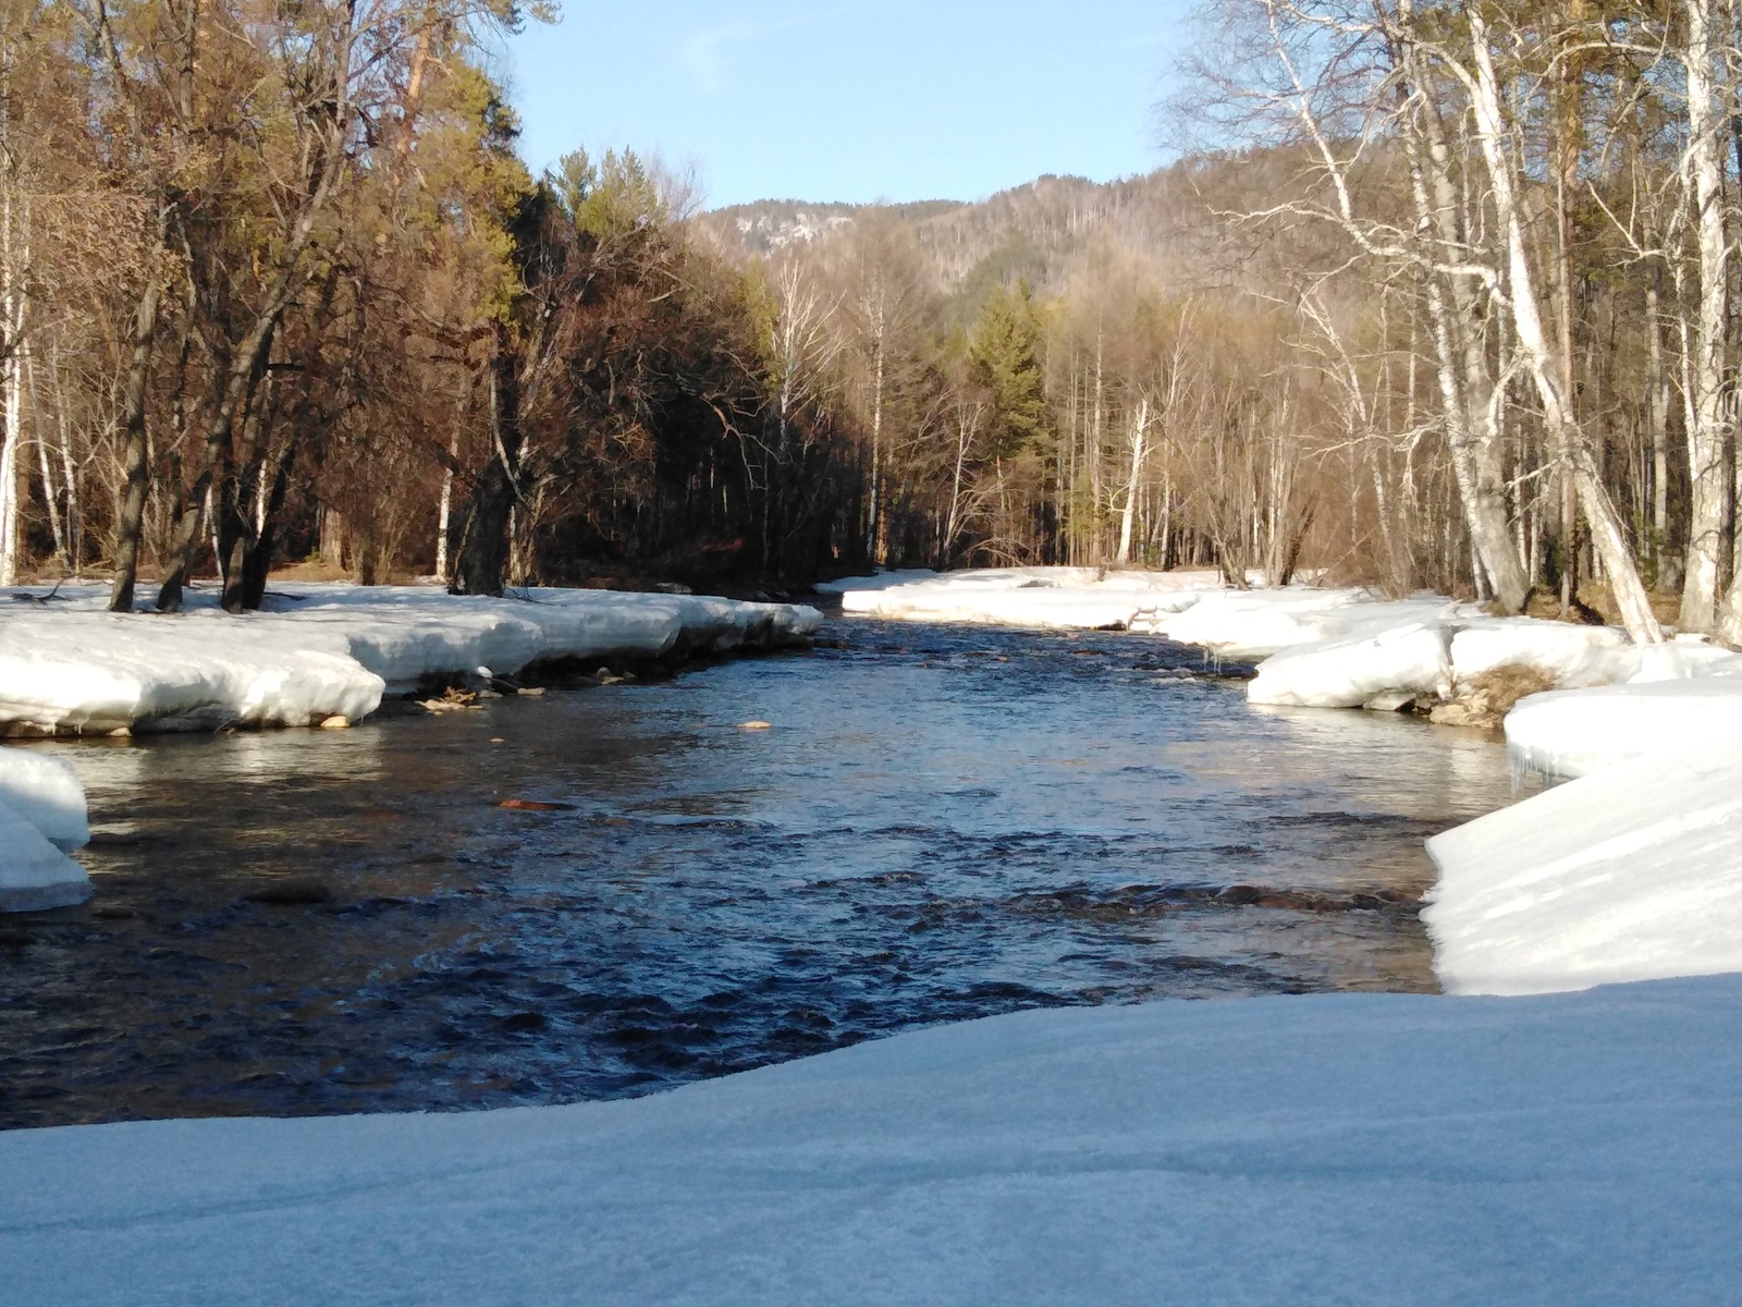
[[[106,591],[0,606],[0,728],[12,734],[300,727],[373,713],[430,676],[496,676],[557,659],[798,645],[815,608],[693,594],[531,589],[458,598],[427,587],[287,584],[233,617],[108,613]]]

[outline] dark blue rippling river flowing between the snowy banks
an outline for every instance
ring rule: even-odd
[[[1153,638],[824,634],[345,734],[37,746],[87,781],[98,891],[0,920],[0,1126],[610,1098],[1016,1007],[1432,988],[1421,840],[1510,798],[1493,742],[1251,709]]]

